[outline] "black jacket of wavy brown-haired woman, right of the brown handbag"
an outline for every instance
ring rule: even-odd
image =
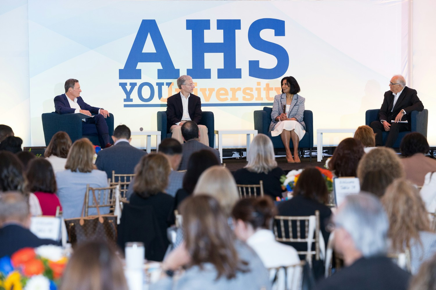
[[[124,250],[126,242],[143,242],[145,258],[162,261],[168,248],[167,228],[174,224],[174,197],[157,193],[147,198],[133,193],[125,203],[118,226],[118,245]]]

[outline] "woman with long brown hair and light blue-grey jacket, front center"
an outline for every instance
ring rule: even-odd
[[[271,289],[257,254],[235,239],[228,216],[210,196],[188,197],[181,204],[185,242],[162,263],[167,277],[150,289]],[[184,272],[173,280],[173,271]]]

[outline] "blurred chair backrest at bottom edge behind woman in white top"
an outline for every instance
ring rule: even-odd
[[[305,261],[298,264],[268,268],[272,290],[300,290]]]

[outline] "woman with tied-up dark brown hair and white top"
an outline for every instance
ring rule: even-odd
[[[266,268],[300,263],[297,251],[279,243],[272,233],[277,209],[271,197],[243,198],[232,210],[235,234],[259,255]]]

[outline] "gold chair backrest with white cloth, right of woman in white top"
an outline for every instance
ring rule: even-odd
[[[304,232],[301,227],[304,224]],[[276,241],[287,243],[307,243],[306,251],[298,251],[299,255],[306,255],[307,262],[312,264],[312,256],[320,260],[320,211],[315,210],[314,216],[275,216],[274,235]],[[280,229],[280,230],[279,230]],[[296,237],[293,235],[296,229]],[[315,243],[315,250],[312,250],[312,243]]]

